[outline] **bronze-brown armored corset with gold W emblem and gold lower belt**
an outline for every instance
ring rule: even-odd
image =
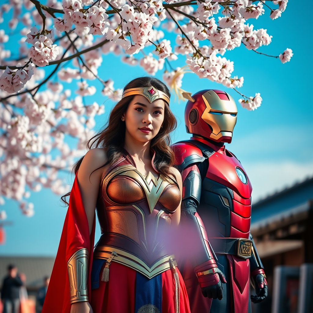
[[[143,176],[131,156],[125,156],[106,173],[97,213],[101,238],[94,257],[129,266],[148,278],[170,268],[169,230],[181,194],[175,184],[151,172]],[[174,263],[176,265],[176,263]]]

